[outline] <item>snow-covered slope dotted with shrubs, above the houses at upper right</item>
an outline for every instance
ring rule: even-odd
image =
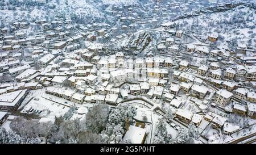
[[[237,22],[240,21],[241,22]],[[242,21],[246,21],[243,24]],[[225,12],[215,12],[214,14],[203,14],[192,18],[176,20],[176,23],[183,23],[182,29],[185,27],[191,30],[191,26],[198,23],[199,35],[206,36],[210,32],[218,32],[220,36],[225,37],[225,40],[237,39],[237,41],[248,41],[251,39],[251,33],[256,32],[255,27],[256,15],[253,9],[245,7],[242,9],[232,9]],[[228,23],[230,22],[230,23]],[[231,26],[225,26],[229,24]],[[254,28],[252,28],[254,25]],[[251,27],[251,28],[248,28]],[[196,28],[195,28],[196,30]],[[224,41],[221,41],[224,44]],[[252,40],[252,45],[255,47],[256,40]]]

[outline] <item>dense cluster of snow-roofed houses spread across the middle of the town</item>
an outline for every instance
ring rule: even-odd
[[[9,75],[12,80],[1,82],[0,110],[16,110],[28,91],[46,87],[46,94],[78,104],[116,106],[133,97],[157,100],[173,107],[175,118],[184,123],[199,126],[205,119],[226,134],[240,127],[234,127],[224,116],[206,112],[208,107],[218,106],[227,114],[256,119],[256,57],[245,55],[255,50],[245,44],[238,44],[236,51],[199,43],[179,44],[187,37],[185,32],[177,30],[175,22],[158,25],[161,19],[154,16],[169,14],[169,7],[179,6],[159,3],[152,6],[154,14],[145,14],[135,4],[113,6],[108,14],[120,21],[118,27],[96,22],[75,27],[71,19],[61,18],[9,23],[1,28],[0,76]],[[148,49],[146,55],[135,58],[120,51],[104,55],[108,48],[105,43],[116,43],[147,23],[159,26],[160,41],[155,47],[164,56]],[[29,35],[28,28],[37,30],[35,35]],[[216,32],[209,33],[206,43],[214,44],[218,37]],[[207,62],[195,65],[180,53],[206,58]],[[185,108],[186,100],[201,111]],[[227,108],[230,105],[231,110]],[[0,116],[1,124],[6,114],[0,112]]]

